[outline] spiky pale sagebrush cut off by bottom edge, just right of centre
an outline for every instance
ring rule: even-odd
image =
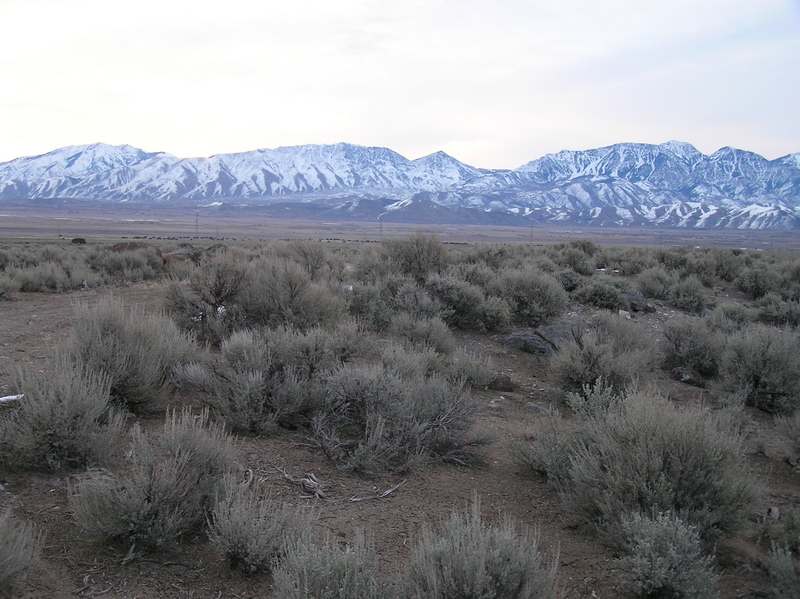
[[[438,532],[429,528],[403,579],[407,599],[552,599],[557,562],[546,563],[535,534],[510,520],[486,525],[477,499],[454,512]]]

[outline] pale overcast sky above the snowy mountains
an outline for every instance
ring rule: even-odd
[[[0,0],[0,162],[300,144],[800,152],[800,0]]]

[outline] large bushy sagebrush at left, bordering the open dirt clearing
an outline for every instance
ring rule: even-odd
[[[66,352],[108,377],[112,399],[135,414],[169,396],[177,366],[202,360],[194,339],[169,318],[128,310],[113,297],[77,305]]]

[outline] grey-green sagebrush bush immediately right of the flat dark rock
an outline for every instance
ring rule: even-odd
[[[604,314],[556,354],[551,373],[567,391],[581,393],[598,380],[622,391],[654,365],[655,348],[642,327],[616,314]]]

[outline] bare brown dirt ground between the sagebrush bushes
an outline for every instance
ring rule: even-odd
[[[113,293],[130,307],[158,309],[163,283],[145,283]],[[88,290],[75,294],[17,293],[0,302],[0,394],[8,374],[26,362],[44,358],[68,335],[72,306],[111,291]],[[671,310],[659,307],[636,321],[651,334],[669,318]],[[484,465],[477,468],[431,464],[407,476],[362,478],[337,471],[310,447],[302,435],[282,432],[268,438],[241,439],[239,465],[252,468],[260,484],[281,499],[306,505],[320,515],[319,526],[342,542],[352,541],[365,530],[374,539],[384,580],[396,580],[424,523],[435,523],[480,497],[487,521],[510,516],[538,529],[541,544],[550,556],[558,556],[559,589],[564,598],[611,598],[616,595],[619,571],[613,555],[585,531],[575,529],[557,493],[541,482],[520,475],[512,445],[537,419],[528,402],[558,409],[561,395],[547,379],[547,359],[509,350],[497,337],[459,334],[470,350],[490,355],[495,369],[511,376],[513,392],[476,393],[480,405],[476,430],[491,433],[494,441],[478,449]],[[708,393],[654,374],[678,401],[699,401]],[[177,397],[174,403],[192,401]],[[723,573],[723,597],[764,597],[769,581],[764,570],[768,552],[759,541],[759,518],[771,506],[783,509],[798,500],[800,474],[775,452],[764,435],[771,420],[754,414],[748,448],[754,475],[765,485],[763,510],[753,514],[752,529],[730,546],[720,548],[718,568]],[[160,426],[154,416],[144,426]],[[765,441],[766,439],[766,441]],[[766,445],[765,445],[766,444]],[[761,449],[758,449],[761,447]],[[766,453],[765,453],[766,451]],[[284,476],[313,473],[325,485],[325,498],[308,498]],[[9,472],[0,470],[0,507],[13,507],[17,515],[46,531],[40,561],[22,575],[11,596],[34,599],[72,599],[108,596],[134,598],[197,599],[269,598],[268,575],[247,577],[230,571],[222,556],[197,540],[178,553],[126,559],[125,548],[111,549],[85,538],[72,522],[67,501],[71,471]],[[402,483],[402,484],[401,484]],[[400,485],[386,498],[384,491]],[[354,501],[357,499],[358,501]]]

